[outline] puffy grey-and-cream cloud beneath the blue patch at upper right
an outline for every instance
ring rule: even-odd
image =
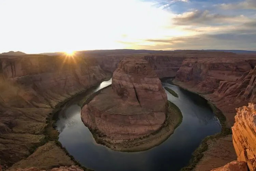
[[[185,12],[173,18],[175,25],[223,25],[228,23],[242,23],[248,20],[244,15],[228,16],[223,14],[211,14],[210,11],[195,10]]]

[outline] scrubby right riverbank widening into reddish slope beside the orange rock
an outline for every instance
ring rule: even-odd
[[[226,122],[226,117],[223,112],[219,110],[212,101],[195,89],[186,87],[182,82],[174,80],[172,80],[172,84],[206,99],[222,126],[221,132],[202,140],[200,146],[193,152],[189,165],[182,168],[181,171],[209,171],[236,160],[236,153],[234,152],[232,144],[232,131]],[[223,152],[225,153],[223,154]]]

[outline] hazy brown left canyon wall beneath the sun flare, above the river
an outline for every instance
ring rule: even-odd
[[[1,56],[1,164],[10,166],[27,157],[31,147],[44,139],[46,117],[55,106],[105,77],[92,58]]]

